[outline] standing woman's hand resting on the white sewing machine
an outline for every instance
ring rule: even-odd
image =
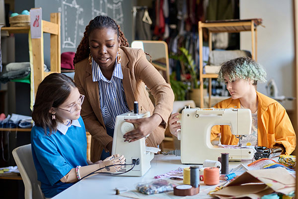
[[[152,131],[154,131],[159,124],[162,122],[162,118],[159,114],[153,114],[150,117],[140,118],[140,119],[127,119],[125,120],[130,123],[134,123],[135,126],[137,124],[137,128],[127,132],[123,137],[125,138],[125,142],[134,142],[143,137],[149,135]]]

